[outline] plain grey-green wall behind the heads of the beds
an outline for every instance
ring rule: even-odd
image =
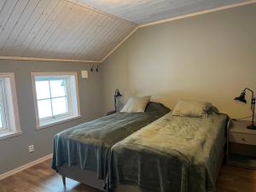
[[[233,118],[251,115],[233,98],[256,90],[256,3],[139,28],[102,67],[105,112],[119,88],[125,99],[150,95],[170,108],[195,99]]]

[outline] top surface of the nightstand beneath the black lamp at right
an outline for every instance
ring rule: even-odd
[[[252,121],[248,121],[248,120],[232,120],[230,131],[256,135],[256,130],[247,129],[247,125],[251,125],[251,124],[252,124]]]

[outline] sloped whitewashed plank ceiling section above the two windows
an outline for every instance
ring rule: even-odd
[[[65,0],[0,0],[0,56],[101,61],[135,27]]]

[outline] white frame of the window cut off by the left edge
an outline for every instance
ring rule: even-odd
[[[0,140],[21,134],[19,108],[15,87],[15,73],[0,73],[3,79],[3,104],[6,129],[0,131]]]

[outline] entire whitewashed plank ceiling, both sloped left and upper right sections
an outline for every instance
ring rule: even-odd
[[[97,61],[137,26],[246,0],[0,0],[0,59]]]

